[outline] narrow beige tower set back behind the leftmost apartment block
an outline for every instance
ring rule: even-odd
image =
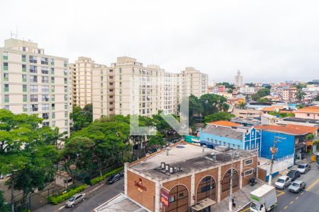
[[[89,57],[79,57],[73,64],[69,64],[71,71],[72,105],[84,107],[93,100],[93,76],[94,69],[106,67],[96,64]]]

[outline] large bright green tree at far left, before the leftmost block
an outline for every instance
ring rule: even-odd
[[[36,115],[13,114],[0,110],[0,172],[11,174],[6,182],[14,191],[23,192],[23,203],[34,189],[42,189],[54,176],[57,150],[50,127],[42,127]]]

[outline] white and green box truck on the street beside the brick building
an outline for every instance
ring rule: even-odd
[[[267,184],[262,185],[250,193],[250,211],[267,212],[277,205],[277,195],[275,187]]]

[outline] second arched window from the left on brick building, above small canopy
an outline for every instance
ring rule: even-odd
[[[199,182],[196,193],[196,202],[209,198],[216,201],[216,181],[213,177],[204,177]]]

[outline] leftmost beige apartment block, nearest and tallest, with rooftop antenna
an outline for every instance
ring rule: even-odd
[[[68,59],[45,54],[35,42],[9,39],[0,48],[0,107],[37,114],[43,126],[69,132]]]

